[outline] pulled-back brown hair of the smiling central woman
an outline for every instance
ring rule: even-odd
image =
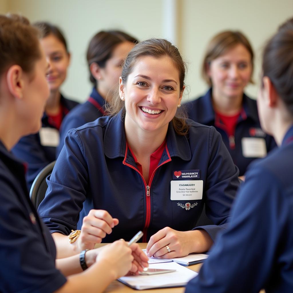
[[[127,78],[129,74],[131,74],[133,67],[137,63],[137,60],[144,56],[152,56],[155,58],[169,57],[178,69],[180,91],[183,91],[187,66],[183,61],[177,47],[164,39],[149,39],[138,43],[133,47],[133,49],[128,53],[122,68],[121,78],[123,84],[127,83]],[[120,97],[117,96],[116,100],[113,100],[113,103],[107,105],[107,112],[109,115],[115,115],[123,108],[124,103]],[[123,110],[123,114],[125,115],[125,108]],[[188,133],[189,127],[185,122],[185,114],[183,114],[183,112],[181,113],[180,117],[175,116],[172,119],[172,123],[175,131],[178,134],[185,135]]]

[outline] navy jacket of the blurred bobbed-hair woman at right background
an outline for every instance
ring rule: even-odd
[[[258,110],[256,101],[248,98],[243,94],[243,110],[239,116],[239,120],[235,129],[235,148],[231,149],[229,137],[225,132],[225,126],[221,121],[215,121],[215,112],[212,105],[212,88],[205,94],[192,102],[184,105],[188,112],[188,117],[196,122],[214,126],[222,135],[224,144],[226,145],[235,165],[239,168],[239,176],[244,175],[248,165],[256,158],[247,158],[243,156],[241,140],[243,137],[261,137],[265,139],[267,152],[276,147],[275,140],[270,135],[265,134],[260,128],[258,119]]]

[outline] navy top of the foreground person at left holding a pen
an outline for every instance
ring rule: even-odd
[[[24,166],[0,142],[0,292],[53,292],[66,282],[56,248],[30,201]]]

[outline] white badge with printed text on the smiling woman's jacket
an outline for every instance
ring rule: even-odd
[[[171,200],[202,200],[203,180],[172,180]]]

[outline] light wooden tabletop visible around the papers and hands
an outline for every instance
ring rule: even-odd
[[[147,247],[147,243],[138,243],[140,248],[144,249]],[[101,244],[96,244],[96,248],[97,247],[101,247],[105,245],[105,243],[101,243]],[[197,265],[190,265],[189,268],[190,270],[193,270],[195,272],[198,272],[200,270],[201,267],[201,263],[197,264]],[[135,290],[132,289],[124,284],[122,284],[121,282],[115,280],[113,281],[104,292],[111,292],[111,293],[128,293],[128,292],[151,292],[151,293],[156,293],[156,292],[160,292],[160,293],[183,293],[185,290],[185,287],[175,287],[175,288],[163,288],[163,289],[149,289],[149,290]]]

